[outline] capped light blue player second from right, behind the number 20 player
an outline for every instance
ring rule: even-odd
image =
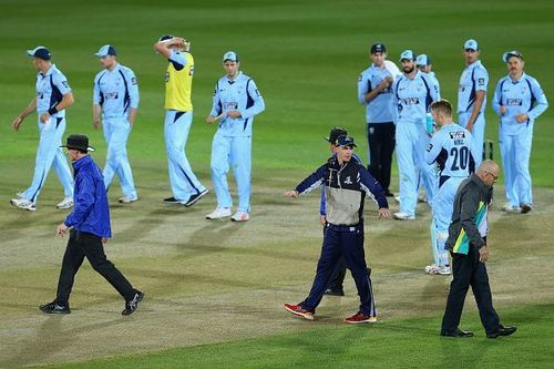
[[[475,166],[483,160],[483,142],[485,129],[486,86],[489,73],[479,60],[479,43],[468,40],[463,44],[465,69],[460,76],[458,90],[458,123],[473,135],[475,146]]]

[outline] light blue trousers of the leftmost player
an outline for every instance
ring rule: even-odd
[[[34,162],[33,180],[29,188],[23,192],[23,197],[35,202],[44,186],[50,167],[53,166],[65,197],[73,196],[73,175],[68,165],[68,160],[60,147],[65,132],[64,117],[50,117],[47,123],[39,122],[39,148]]]

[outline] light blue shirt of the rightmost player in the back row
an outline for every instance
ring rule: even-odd
[[[506,106],[506,112],[500,114],[500,106]],[[525,73],[514,81],[509,75],[496,83],[492,107],[500,115],[500,129],[503,134],[517,135],[526,131],[530,123],[533,123],[547,107],[548,101],[543,89],[531,75]],[[527,114],[525,123],[517,123],[516,115]]]

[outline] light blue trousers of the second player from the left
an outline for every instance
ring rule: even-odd
[[[121,119],[104,119],[104,139],[107,144],[107,156],[104,166],[104,184],[107,189],[114,175],[120,177],[121,189],[129,198],[135,198],[136,189],[133,172],[127,158],[127,139],[131,124],[126,116]]]

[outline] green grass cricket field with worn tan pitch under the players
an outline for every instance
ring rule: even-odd
[[[495,307],[513,337],[486,340],[468,296],[462,326],[468,340],[441,339],[440,319],[449,278],[429,277],[430,212],[419,205],[412,223],[378,222],[367,206],[367,255],[373,268],[380,321],[350,327],[356,288],[324,298],[319,319],[289,316],[312,281],[321,242],[318,195],[281,196],[327,157],[321,136],[343,126],[366,158],[363,107],[356,99],[359,73],[371,43],[387,44],[397,61],[404,49],[428,53],[442,94],[455,102],[463,69],[463,41],[475,38],[489,70],[489,101],[505,75],[501,55],[517,49],[526,72],[552,101],[554,2],[482,1],[7,1],[0,0],[0,368],[336,368],[350,367],[551,367],[554,362],[554,113],[535,124],[531,160],[535,188],[529,216],[491,216],[489,270]],[[197,205],[168,207],[163,142],[163,75],[166,62],[152,44],[161,34],[192,40],[195,117],[187,156],[212,189],[209,150],[214,127],[204,123],[212,91],[223,75],[220,55],[236,51],[266,102],[256,117],[253,147],[253,212],[246,224],[209,223],[214,195]],[[39,304],[55,294],[65,240],[54,238],[65,216],[55,209],[61,187],[51,174],[38,211],[16,209],[9,199],[29,185],[38,143],[35,115],[20,132],[11,121],[34,94],[24,51],[44,44],[66,74],[75,96],[68,110],[70,133],[85,133],[105,161],[102,132],[92,127],[93,53],[105,43],[131,66],[141,89],[136,126],[127,150],[141,199],[116,204],[109,258],[142,288],[145,300],[131,317],[122,299],[88,264],[78,275],[72,314],[50,317]],[[497,142],[497,120],[488,105],[486,136]],[[495,157],[499,157],[496,147]],[[398,189],[394,165],[393,187]],[[503,203],[502,181],[495,195]],[[497,206],[499,207],[499,206]],[[396,204],[391,204],[393,211]],[[90,361],[92,360],[92,361]]]

